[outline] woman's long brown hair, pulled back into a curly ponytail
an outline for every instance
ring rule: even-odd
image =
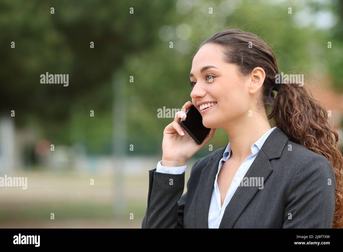
[[[236,64],[240,76],[247,76],[256,67],[263,68],[265,79],[262,85],[262,105],[267,115],[269,111],[268,119],[272,119],[289,140],[326,157],[334,169],[336,201],[332,228],[342,228],[343,157],[338,133],[330,126],[324,106],[305,86],[299,86],[298,83],[285,81],[278,88],[276,75],[279,70],[275,55],[255,34],[228,29],[206,39],[199,49],[205,44],[220,45],[224,52],[223,60]],[[278,89],[276,97],[273,92],[275,88]]]

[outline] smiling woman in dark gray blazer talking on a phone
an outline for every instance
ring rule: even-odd
[[[232,29],[201,44],[191,97],[211,131],[198,145],[182,130],[190,101],[167,125],[142,228],[342,228],[338,134],[305,85],[278,74],[254,34]],[[186,161],[219,127],[230,142],[196,161],[182,195]]]

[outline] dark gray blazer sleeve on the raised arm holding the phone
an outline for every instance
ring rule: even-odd
[[[198,159],[191,168],[197,165]],[[187,191],[189,189],[187,181]],[[184,228],[184,210],[187,192],[185,172],[170,174],[149,170],[149,192],[142,228]],[[182,196],[181,196],[182,195]]]

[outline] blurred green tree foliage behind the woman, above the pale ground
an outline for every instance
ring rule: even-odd
[[[15,110],[18,127],[33,125],[56,144],[78,142],[88,153],[111,153],[113,73],[121,72],[127,80],[122,83],[127,142],[135,146],[128,154],[162,153],[163,129],[173,118],[157,118],[157,109],[181,108],[190,100],[189,72],[198,45],[227,28],[260,36],[274,51],[280,72],[322,76],[343,91],[341,1],[190,2],[192,7],[181,0],[2,0],[0,112]],[[331,13],[335,25],[305,25],[306,13]],[[40,84],[46,72],[69,74],[69,86]],[[210,144],[217,149],[227,141],[218,129]]]

